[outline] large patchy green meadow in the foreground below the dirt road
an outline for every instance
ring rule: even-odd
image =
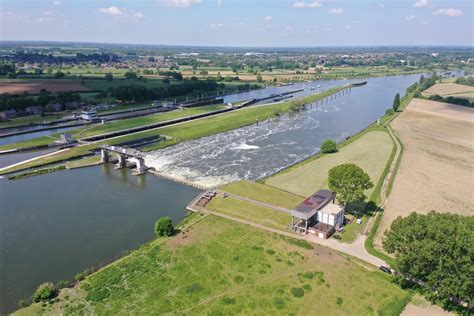
[[[398,315],[409,299],[324,247],[215,216],[181,229],[17,314]]]

